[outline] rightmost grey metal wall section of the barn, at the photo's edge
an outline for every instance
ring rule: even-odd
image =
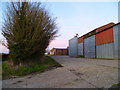
[[[120,46],[118,42],[119,41],[119,37],[120,37],[120,24],[116,25],[113,27],[114,30],[114,58],[118,59],[120,58]]]

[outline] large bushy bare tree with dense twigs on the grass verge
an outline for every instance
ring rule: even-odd
[[[15,65],[39,61],[58,32],[55,18],[40,2],[8,4],[2,34]]]

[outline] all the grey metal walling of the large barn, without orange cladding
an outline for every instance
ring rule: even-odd
[[[111,27],[110,27],[111,28]],[[100,32],[101,33],[101,32]],[[114,42],[95,45],[95,35],[84,38],[84,42],[78,43],[78,38],[69,40],[69,56],[84,55],[86,58],[112,58],[120,59],[120,24],[113,26]]]

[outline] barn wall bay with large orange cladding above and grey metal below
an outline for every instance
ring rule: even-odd
[[[96,34],[96,58],[114,58],[113,28]]]

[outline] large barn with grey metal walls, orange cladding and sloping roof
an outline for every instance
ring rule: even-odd
[[[69,56],[86,58],[120,58],[120,23],[109,23],[69,40]]]

